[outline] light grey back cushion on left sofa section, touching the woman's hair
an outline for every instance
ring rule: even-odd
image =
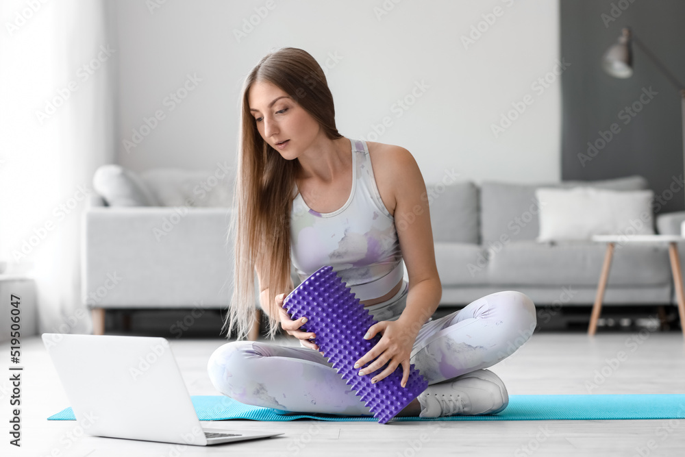
[[[223,170],[151,169],[140,177],[162,206],[216,208],[232,206],[233,179]]]

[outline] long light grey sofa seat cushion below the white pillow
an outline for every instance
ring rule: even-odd
[[[597,286],[606,243],[512,241],[490,255],[491,284],[527,286]],[[668,249],[664,245],[616,243],[610,286],[670,284]]]

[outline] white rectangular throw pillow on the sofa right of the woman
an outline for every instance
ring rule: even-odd
[[[538,188],[538,241],[590,240],[593,235],[653,235],[652,190]]]

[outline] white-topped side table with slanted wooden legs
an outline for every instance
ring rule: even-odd
[[[685,238],[679,235],[595,235],[593,236],[593,241],[607,243],[607,245],[606,254],[604,255],[604,264],[601,269],[601,275],[599,275],[597,297],[595,297],[593,313],[590,316],[588,334],[594,335],[597,331],[597,319],[599,319],[601,302],[604,298],[604,290],[606,289],[606,282],[609,278],[611,258],[614,255],[614,245],[616,245],[616,243],[668,243],[669,257],[671,258],[671,274],[673,274],[675,297],[677,298],[678,313],[680,314],[680,326],[683,330],[683,337],[685,338],[685,295],[683,293],[682,270],[680,269],[680,258],[678,257],[677,247],[677,243],[679,241],[685,241]]]

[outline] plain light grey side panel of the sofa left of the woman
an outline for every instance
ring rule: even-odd
[[[89,208],[82,299],[89,308],[226,308],[229,208]]]

